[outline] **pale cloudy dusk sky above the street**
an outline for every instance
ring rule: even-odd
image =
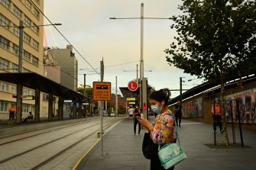
[[[182,14],[178,9],[181,0],[44,0],[44,14],[57,26],[60,32],[82,54],[90,65],[99,72],[99,63],[104,59],[106,82],[112,82],[115,92],[115,76],[118,88],[127,87],[130,80],[136,79],[136,64],[141,59],[141,21],[110,20],[109,18],[139,18],[141,3],[144,3],[144,17],[170,18]],[[44,20],[44,24],[48,24]],[[183,88],[192,88],[202,82],[183,70],[169,66],[164,50],[170,47],[176,30],[171,30],[171,20],[144,20],[144,77],[148,84],[160,88],[180,88],[180,76],[184,77]],[[48,47],[66,48],[63,37],[51,27],[45,27]],[[99,81],[99,75],[75,51],[78,60],[78,84],[86,85]],[[151,70],[151,72],[149,72]],[[126,72],[125,72],[126,71]],[[128,72],[127,72],[128,71]],[[188,79],[195,79],[188,82]],[[120,91],[118,91],[121,94]],[[179,95],[172,91],[171,98]]]

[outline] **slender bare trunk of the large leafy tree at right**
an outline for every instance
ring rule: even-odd
[[[224,106],[224,79],[221,74],[221,110],[222,110],[222,119],[223,119],[223,129],[225,131],[225,146],[230,146],[229,140],[228,140],[228,130],[226,125],[226,119],[225,119],[225,106]]]

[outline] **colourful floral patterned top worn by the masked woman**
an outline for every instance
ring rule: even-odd
[[[177,138],[175,127],[173,126],[174,117],[171,111],[163,114],[157,114],[154,120],[154,130],[151,132],[151,138],[156,144],[174,143]]]

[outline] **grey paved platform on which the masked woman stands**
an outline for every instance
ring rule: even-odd
[[[153,120],[154,117],[150,117]],[[213,143],[212,125],[182,120],[180,133],[181,145],[187,159],[175,167],[176,170],[251,170],[256,167],[256,133],[243,130],[245,148],[239,146],[238,129],[235,129],[236,142],[232,147],[211,149],[207,144]],[[101,157],[101,146],[98,143],[79,162],[76,170],[146,170],[150,169],[150,160],[144,159],[141,151],[145,129],[140,135],[134,135],[133,122],[127,119],[118,123],[104,137],[104,158]],[[230,142],[232,132],[228,128]],[[217,133],[217,143],[224,143],[224,136]],[[86,151],[85,151],[86,152]]]

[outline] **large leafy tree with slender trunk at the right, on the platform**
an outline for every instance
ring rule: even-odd
[[[165,52],[167,63],[185,73],[221,85],[226,146],[225,82],[255,72],[255,0],[183,0],[183,14],[173,16],[175,42]]]

